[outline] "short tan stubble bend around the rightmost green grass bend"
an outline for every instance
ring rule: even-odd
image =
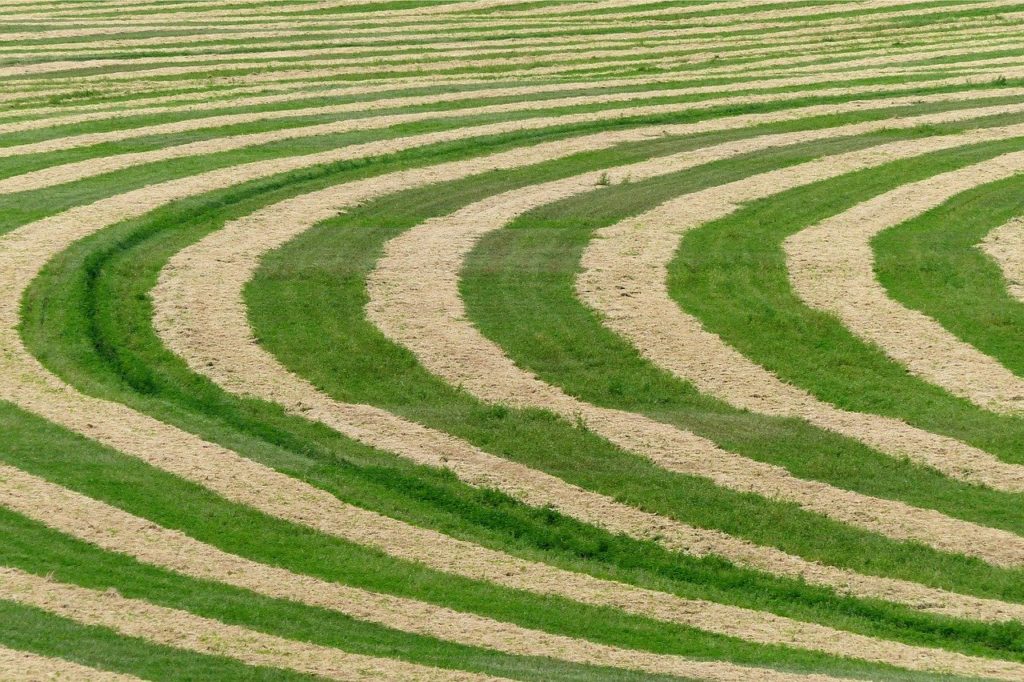
[[[870,241],[958,194],[1022,171],[1024,153],[1007,154],[904,184],[797,232],[785,242],[794,291],[925,381],[986,410],[1020,414],[1024,379],[890,298],[874,276]]]

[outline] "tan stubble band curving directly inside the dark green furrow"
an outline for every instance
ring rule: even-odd
[[[944,120],[956,113],[926,117]],[[909,119],[902,125],[915,125]],[[857,124],[847,133],[865,132],[891,123]],[[844,130],[844,129],[839,129]],[[674,129],[693,132],[692,125]],[[814,138],[837,134],[837,129],[795,133]],[[554,142],[531,150],[500,154],[467,162],[454,162],[404,171],[370,181],[287,200],[257,211],[213,232],[171,259],[153,291],[155,327],[169,348],[181,355],[194,371],[204,374],[229,391],[255,395],[284,406],[292,414],[314,419],[341,433],[387,450],[416,462],[445,466],[472,484],[494,485],[530,504],[554,504],[564,513],[634,537],[649,537],[656,530],[673,550],[697,555],[718,554],[740,565],[754,566],[775,574],[800,576],[859,596],[881,597],[915,607],[938,608],[967,617],[988,620],[1020,611],[1015,605],[979,603],[959,595],[932,591],[923,586],[858,576],[819,566],[738,541],[723,534],[689,528],[669,519],[658,519],[623,505],[609,504],[600,496],[586,493],[563,481],[520,465],[494,458],[468,443],[420,425],[412,424],[382,410],[344,404],[331,399],[308,382],[282,367],[258,346],[249,329],[242,291],[258,266],[260,257],[313,224],[350,206],[387,193],[426,183],[453,180],[470,174],[504,167],[538,163],[573,152],[642,139],[646,131],[602,133],[578,138],[571,144]],[[772,145],[795,141],[794,135],[765,138]],[[750,144],[750,142],[746,142]],[[202,301],[200,305],[199,302]],[[597,516],[598,518],[595,518]],[[600,517],[603,517],[601,521]],[[645,531],[644,526],[647,526]],[[922,590],[926,592],[923,593]],[[930,593],[927,597],[926,593]],[[996,611],[993,613],[992,606]],[[948,610],[945,610],[948,609]],[[996,613],[998,615],[996,615]]]

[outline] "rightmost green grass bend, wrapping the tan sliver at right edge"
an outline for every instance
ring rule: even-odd
[[[1024,213],[1021,186],[1019,177],[979,186],[872,241],[878,278],[890,296],[1017,374],[1024,373],[1024,306],[977,245]]]

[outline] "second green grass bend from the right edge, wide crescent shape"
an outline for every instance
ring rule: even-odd
[[[1021,462],[1024,422],[909,376],[835,317],[805,306],[786,280],[781,249],[785,237],[824,217],[972,158],[966,148],[932,163],[900,162],[756,202],[685,236],[671,264],[672,295],[727,343],[823,400],[904,419]]]

